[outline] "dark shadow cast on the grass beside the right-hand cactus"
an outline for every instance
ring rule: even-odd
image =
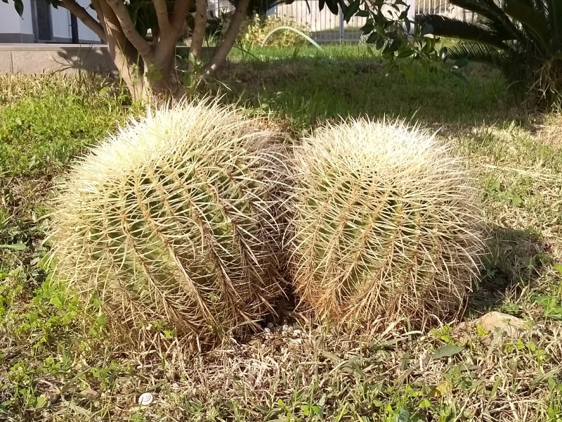
[[[469,313],[506,309],[511,297],[519,297],[524,288],[533,287],[549,259],[548,245],[530,229],[514,230],[492,226],[481,283],[469,300]],[[509,305],[507,305],[509,307]]]

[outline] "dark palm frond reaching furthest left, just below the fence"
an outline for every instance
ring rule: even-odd
[[[442,15],[421,14],[416,16],[417,23],[426,23],[433,27],[433,34],[438,37],[450,37],[491,44],[499,49],[507,49],[501,38],[490,33],[485,27],[464,22]]]

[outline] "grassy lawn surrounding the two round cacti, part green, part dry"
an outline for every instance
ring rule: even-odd
[[[196,357],[112,349],[44,260],[53,183],[143,108],[100,77],[0,77],[0,421],[562,421],[562,115],[466,72],[386,75],[361,45],[254,49],[205,89],[288,139],[341,117],[437,131],[469,160],[488,228],[463,319],[498,311],[523,328],[389,326],[361,341],[297,312]],[[142,392],[155,402],[140,407]]]

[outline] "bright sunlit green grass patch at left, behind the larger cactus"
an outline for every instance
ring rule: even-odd
[[[0,174],[57,172],[122,122],[128,102],[103,80],[1,77]]]

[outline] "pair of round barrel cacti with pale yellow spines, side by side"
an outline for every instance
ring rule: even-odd
[[[332,322],[459,310],[483,242],[447,147],[400,122],[359,120],[288,151],[260,127],[204,100],[92,148],[58,186],[58,276],[129,338],[157,327],[216,340],[292,293]]]

